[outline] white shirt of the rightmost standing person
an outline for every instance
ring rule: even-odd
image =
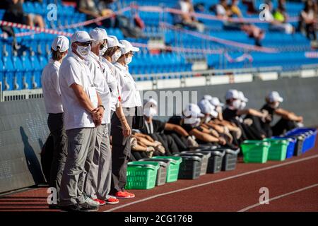
[[[139,90],[134,78],[128,71],[128,66],[115,63],[119,72],[119,95],[122,102],[122,107],[138,107],[142,106]]]

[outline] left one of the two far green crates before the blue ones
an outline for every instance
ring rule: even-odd
[[[267,162],[270,143],[247,140],[241,144],[244,162]]]

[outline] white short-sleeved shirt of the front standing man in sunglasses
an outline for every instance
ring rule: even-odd
[[[90,79],[90,69],[86,62],[73,52],[62,61],[59,69],[59,87],[64,108],[65,129],[93,128],[95,124],[90,113],[84,109],[76,97],[71,85],[76,83],[90,97],[93,107],[98,106],[98,98],[93,81]]]

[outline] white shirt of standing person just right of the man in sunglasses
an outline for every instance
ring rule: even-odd
[[[100,95],[100,99],[102,100],[102,105],[105,107],[104,117],[102,119],[102,124],[110,123],[110,100],[111,93],[110,88],[107,85],[107,81],[105,78],[105,67],[100,62],[100,57],[96,56],[93,52],[90,52],[88,57],[86,58],[86,64],[88,69],[91,72],[91,78],[95,85],[98,94]]]

